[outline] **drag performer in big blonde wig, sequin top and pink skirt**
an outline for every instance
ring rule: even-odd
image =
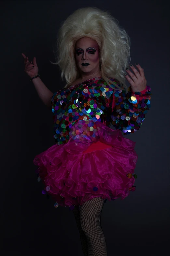
[[[118,21],[93,7],[76,10],[59,30],[52,63],[61,69],[64,88],[57,84],[52,93],[35,57],[33,66],[22,56],[25,72],[53,112],[55,144],[34,159],[42,193],[54,198],[56,208],[73,211],[84,255],[106,256],[103,205],[135,191],[138,155],[135,142],[123,135],[139,131],[150,108],[144,69],[129,65],[130,38]]]

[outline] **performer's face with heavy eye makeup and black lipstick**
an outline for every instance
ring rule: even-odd
[[[91,75],[100,70],[98,43],[88,37],[80,38],[75,45],[77,67],[81,74]],[[86,65],[82,65],[88,63]]]

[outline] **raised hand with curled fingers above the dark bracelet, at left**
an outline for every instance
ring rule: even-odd
[[[24,64],[25,69],[24,71],[28,74],[29,77],[35,77],[38,75],[38,66],[36,64],[35,57],[33,58],[33,64],[32,61],[29,62],[28,57],[25,56],[25,54],[22,53],[22,56],[24,57]],[[34,68],[33,68],[34,66]]]

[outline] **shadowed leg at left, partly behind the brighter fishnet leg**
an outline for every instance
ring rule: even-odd
[[[81,246],[82,246],[82,249],[83,249],[83,253],[84,253],[84,256],[88,256],[87,254],[87,239],[86,239],[86,236],[81,228],[81,224],[80,224],[80,212],[79,212],[79,209],[78,209],[79,206],[75,206],[74,207],[74,210],[73,210],[73,213],[74,213],[74,216],[75,216],[75,219],[76,219],[76,224],[77,224],[77,227],[78,227],[78,230],[79,230],[79,233],[80,233],[80,240],[81,240]]]

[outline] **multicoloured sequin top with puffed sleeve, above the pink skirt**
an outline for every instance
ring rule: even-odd
[[[109,79],[120,86],[115,78]],[[115,87],[113,84],[111,86]],[[134,94],[136,100],[132,101],[131,96]],[[69,132],[78,120],[91,119],[109,127],[112,124],[114,128],[123,131],[124,135],[134,133],[142,125],[149,110],[150,95],[149,86],[137,93],[131,87],[127,94],[125,90],[115,91],[102,77],[62,88],[51,99],[55,142],[58,145],[67,143]]]

